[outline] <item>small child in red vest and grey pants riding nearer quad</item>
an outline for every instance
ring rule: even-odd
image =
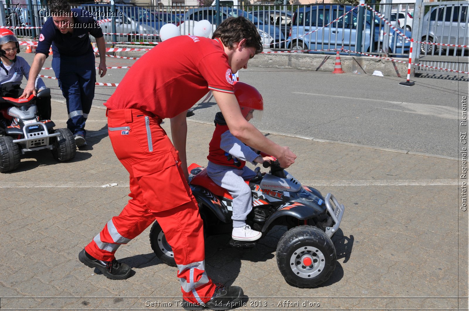
[[[234,83],[234,96],[238,100],[242,116],[249,122],[264,110],[264,101],[261,94],[253,86],[243,83]],[[221,112],[215,115],[215,131],[209,144],[209,160],[207,175],[213,182],[225,188],[233,197],[233,232],[231,238],[236,241],[255,241],[262,233],[252,230],[246,224],[247,215],[252,210],[251,189],[245,180],[256,176],[256,173],[246,167],[246,161],[257,163],[271,162],[275,158],[271,156],[259,156],[257,150],[246,146],[242,141],[234,137],[227,126]]]

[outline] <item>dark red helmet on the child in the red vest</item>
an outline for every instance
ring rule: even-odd
[[[262,118],[264,100],[261,93],[255,87],[248,83],[236,81],[234,82],[234,96],[238,100],[244,118],[246,118],[251,110],[254,110],[253,116],[256,120]]]

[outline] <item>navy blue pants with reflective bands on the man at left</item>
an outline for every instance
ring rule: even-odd
[[[96,83],[94,54],[54,57],[52,68],[67,101],[67,127],[73,134],[86,135],[85,122],[91,110]]]

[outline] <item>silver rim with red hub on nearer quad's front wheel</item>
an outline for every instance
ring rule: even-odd
[[[301,247],[290,257],[290,268],[293,273],[305,279],[318,276],[324,267],[324,254],[316,247]]]

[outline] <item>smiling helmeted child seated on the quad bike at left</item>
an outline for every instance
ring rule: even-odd
[[[0,96],[18,98],[23,94],[20,88],[23,76],[29,78],[30,65],[17,56],[20,52],[18,38],[13,31],[9,29],[0,30]],[[36,89],[38,92],[45,89],[44,81],[41,78],[36,79]],[[38,106],[38,114],[40,120],[48,120],[51,118],[51,96],[41,96],[36,99]],[[8,120],[0,115],[0,134],[4,132],[8,126]]]

